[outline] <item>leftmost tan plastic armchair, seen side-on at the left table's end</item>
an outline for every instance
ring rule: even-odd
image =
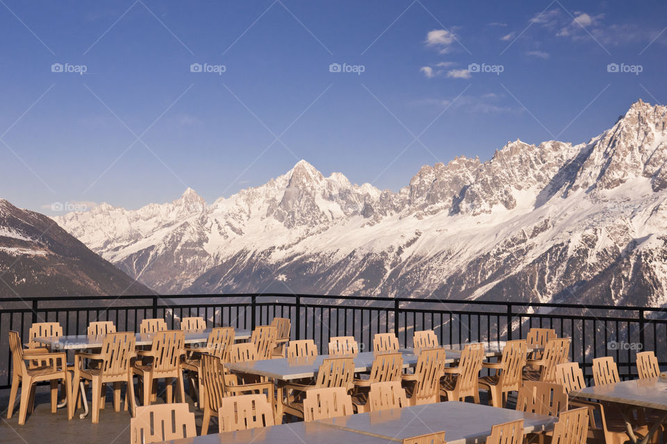
[[[13,359],[12,388],[9,395],[7,418],[12,417],[19,385],[21,386],[21,402],[19,404],[19,425],[26,423],[28,409],[32,411],[35,397],[35,384],[51,381],[51,413],[56,413],[58,405],[58,381],[65,382],[67,397],[67,419],[72,419],[73,409],[70,397],[69,373],[67,373],[67,355],[60,353],[32,353],[25,355],[18,332],[9,332],[9,348]],[[26,360],[36,359],[39,366],[28,368]],[[43,366],[41,364],[44,364]]]

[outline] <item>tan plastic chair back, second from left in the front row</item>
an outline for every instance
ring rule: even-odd
[[[217,423],[220,433],[275,425],[272,405],[264,395],[222,398],[217,411]]]

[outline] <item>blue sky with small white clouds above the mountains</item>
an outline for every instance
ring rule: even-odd
[[[2,0],[0,197],[210,203],[302,158],[397,190],[667,103],[666,27],[661,1]]]

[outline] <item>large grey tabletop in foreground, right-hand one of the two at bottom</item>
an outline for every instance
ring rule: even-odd
[[[374,434],[397,441],[444,430],[447,444],[465,444],[484,442],[491,434],[493,425],[518,419],[524,420],[526,433],[550,430],[558,420],[554,416],[500,409],[471,402],[447,401],[403,409],[357,413],[320,422],[331,427]]]

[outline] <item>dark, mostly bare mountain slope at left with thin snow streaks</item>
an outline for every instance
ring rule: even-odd
[[[153,294],[44,214],[0,199],[0,301],[16,296]]]

